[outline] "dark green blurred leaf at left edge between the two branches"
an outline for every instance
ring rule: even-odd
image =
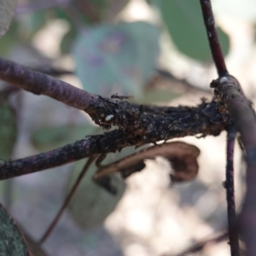
[[[0,158],[9,160],[17,135],[15,111],[9,106],[8,96],[0,94]]]

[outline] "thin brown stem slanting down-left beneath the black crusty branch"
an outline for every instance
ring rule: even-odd
[[[79,188],[79,184],[81,183],[81,181],[84,177],[84,174],[87,172],[88,168],[90,167],[91,163],[94,160],[95,160],[95,157],[91,157],[89,160],[87,160],[82,172],[80,172],[79,177],[77,178],[76,182],[73,184],[72,189],[69,191],[61,209],[59,210],[59,212],[57,212],[57,214],[56,214],[55,218],[53,219],[53,221],[51,222],[51,224],[49,224],[49,227],[45,231],[44,236],[42,236],[42,238],[40,239],[39,244],[42,244],[49,237],[52,230],[54,230],[55,225],[59,222],[63,212],[67,209],[69,202],[71,201],[71,199],[73,198],[73,195]]]

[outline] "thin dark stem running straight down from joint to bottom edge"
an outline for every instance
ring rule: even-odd
[[[227,135],[227,166],[225,189],[228,204],[228,225],[230,238],[231,256],[239,256],[239,239],[236,229],[236,203],[234,189],[234,144],[236,138],[236,130],[233,127],[228,129]]]

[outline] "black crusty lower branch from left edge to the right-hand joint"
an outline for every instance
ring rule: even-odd
[[[140,131],[137,131],[137,134],[129,134],[129,132],[115,130],[102,135],[85,137],[63,148],[7,162],[0,167],[0,180],[65,165],[97,154],[115,152],[127,146],[141,146],[163,139],[197,134],[203,137],[218,136],[225,130],[226,125],[230,125],[227,123],[228,116],[224,117],[219,113],[216,102],[202,102],[197,108],[182,106],[163,108],[162,113],[165,114],[145,113],[145,122],[151,125],[149,126],[151,130],[146,135],[141,134]]]

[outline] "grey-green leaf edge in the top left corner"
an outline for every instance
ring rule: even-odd
[[[16,0],[0,1],[0,38],[8,31],[13,16],[15,15]]]

